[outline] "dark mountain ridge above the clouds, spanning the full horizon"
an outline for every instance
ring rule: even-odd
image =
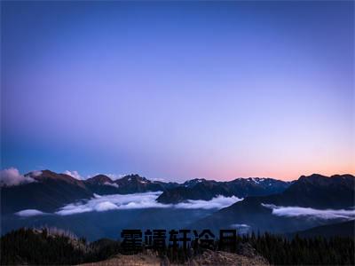
[[[279,206],[344,207],[353,202],[354,194],[354,180],[351,175],[336,175],[330,178],[320,175],[301,176],[296,182],[258,177],[237,178],[229,182],[193,179],[184,184],[151,181],[138,175],[123,176],[117,180],[105,175],[77,180],[50,170],[31,172],[25,176],[32,177],[36,182],[1,188],[3,215],[24,209],[53,212],[77,200],[91,199],[94,193],[104,195],[161,191],[163,193],[158,201],[162,203],[210,200],[217,195],[247,197],[241,204],[231,206],[241,208],[241,214],[253,204],[256,205],[254,210],[260,208],[260,203]],[[338,196],[339,192],[341,197]],[[262,210],[271,212],[265,207],[262,207]]]

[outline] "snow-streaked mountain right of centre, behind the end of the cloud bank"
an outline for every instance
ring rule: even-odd
[[[157,201],[175,204],[186,200],[211,200],[218,195],[238,198],[263,196],[283,192],[290,184],[291,182],[259,177],[238,178],[230,182],[193,179],[164,191]]]

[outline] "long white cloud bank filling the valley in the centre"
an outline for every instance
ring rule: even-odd
[[[152,207],[176,207],[176,208],[222,208],[228,207],[233,203],[241,200],[236,197],[226,198],[218,196],[212,200],[188,200],[184,203],[178,204],[162,204],[156,201],[162,192],[145,192],[135,194],[114,194],[114,195],[94,195],[91,200],[83,202],[68,204],[60,208],[57,215],[75,215],[86,212],[103,212],[108,210],[122,210],[122,209],[138,209],[138,208],[152,208]]]

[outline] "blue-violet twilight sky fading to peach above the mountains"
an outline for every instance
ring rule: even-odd
[[[352,1],[1,7],[2,168],[355,174]]]

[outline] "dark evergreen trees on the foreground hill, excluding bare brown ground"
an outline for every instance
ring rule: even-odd
[[[343,264],[353,265],[353,238],[300,238],[293,239],[275,236],[269,233],[262,235],[238,236],[235,254],[256,259],[264,257],[271,264]],[[220,250],[218,241],[211,246],[214,251]],[[178,248],[173,252],[170,248],[155,253],[158,257],[170,262],[184,263],[203,254],[201,248]],[[71,233],[56,229],[20,229],[12,231],[1,238],[1,264],[78,264],[83,262],[104,261],[115,254],[122,254],[119,241],[100,239],[87,243],[85,239],[77,239]]]

